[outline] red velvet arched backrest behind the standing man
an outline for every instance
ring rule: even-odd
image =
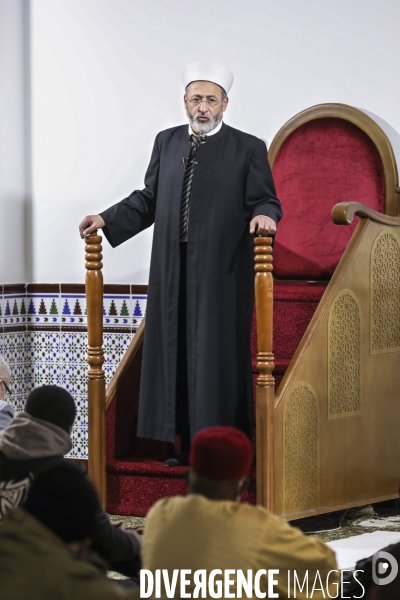
[[[382,163],[370,138],[343,119],[318,119],[293,131],[273,166],[283,215],[274,247],[279,279],[329,280],[358,218],[348,227],[332,222],[342,201],[384,212]]]

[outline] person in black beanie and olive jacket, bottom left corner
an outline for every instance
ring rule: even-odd
[[[78,465],[60,461],[37,474],[23,508],[0,525],[0,598],[113,600],[138,598],[107,579],[105,565],[88,555],[99,500]]]

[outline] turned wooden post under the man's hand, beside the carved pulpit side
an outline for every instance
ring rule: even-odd
[[[274,510],[274,403],[272,352],[273,291],[272,238],[256,237],[255,299],[257,318],[256,460],[257,504]]]

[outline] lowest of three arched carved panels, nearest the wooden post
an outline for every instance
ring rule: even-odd
[[[300,382],[284,417],[285,512],[309,509],[318,502],[318,416],[315,394]]]

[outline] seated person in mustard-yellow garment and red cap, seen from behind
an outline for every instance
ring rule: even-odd
[[[245,577],[248,569],[252,569],[253,577],[261,569],[279,569],[273,576],[278,581],[273,591],[282,598],[289,597],[288,570],[292,575],[291,598],[307,597],[305,589],[301,593],[298,587],[294,596],[293,571],[300,583],[308,571],[309,591],[319,571],[325,591],[315,590],[314,600],[329,597],[325,585],[329,571],[333,571],[329,589],[334,597],[339,571],[330,548],[260,506],[239,503],[248,484],[251,459],[251,444],[237,429],[211,427],[195,435],[188,470],[189,495],[165,498],[149,511],[142,542],[143,569],[153,576],[156,569],[167,569],[169,582],[174,569],[190,569],[192,574],[206,569],[208,575],[213,569],[241,570]],[[230,592],[236,597],[236,578],[230,577],[235,582]],[[186,591],[193,593],[194,587],[191,579]],[[318,582],[316,588],[321,588]],[[178,581],[178,594],[179,589]],[[268,597],[267,575],[261,575],[260,589]],[[165,594],[163,583],[161,591]]]

